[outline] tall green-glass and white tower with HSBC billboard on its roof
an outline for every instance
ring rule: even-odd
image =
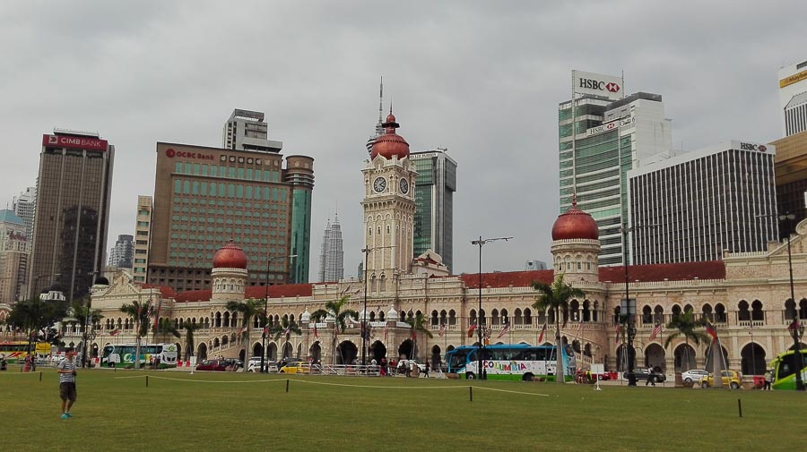
[[[662,97],[638,92],[622,98],[622,84],[618,77],[573,71],[572,100],[559,107],[560,211],[577,194],[577,206],[599,227],[603,266],[624,260],[628,170],[672,149]]]

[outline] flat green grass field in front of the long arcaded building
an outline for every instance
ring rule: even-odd
[[[770,452],[801,450],[807,418],[782,391],[79,370],[62,420],[39,378],[0,372],[0,450]]]

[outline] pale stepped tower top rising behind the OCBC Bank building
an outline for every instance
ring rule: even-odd
[[[269,140],[268,137],[269,124],[265,123],[263,113],[236,108],[224,124],[221,146],[224,149],[280,152],[282,141]]]

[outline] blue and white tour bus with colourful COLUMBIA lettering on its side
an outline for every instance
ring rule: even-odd
[[[485,345],[482,369],[489,380],[555,380],[557,355],[554,345]],[[460,345],[447,352],[448,372],[473,380],[479,373],[479,347]],[[561,347],[563,380],[574,380],[576,361],[571,345]]]

